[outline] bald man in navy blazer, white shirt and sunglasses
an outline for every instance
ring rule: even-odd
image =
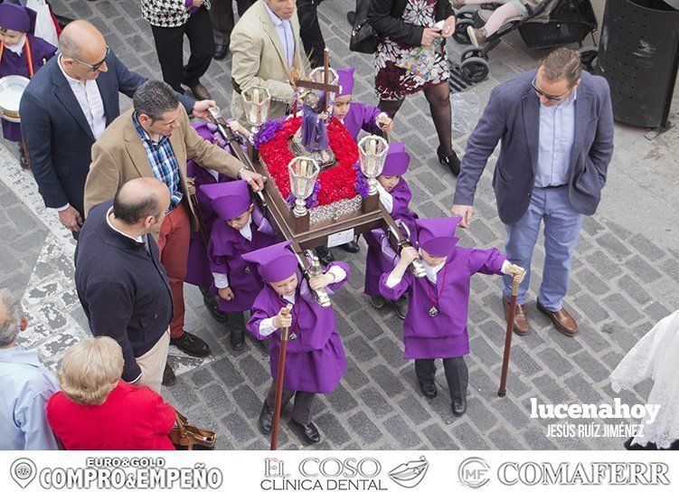
[[[118,92],[131,98],[146,79],[127,70],[86,21],[67,25],[59,45],[61,54],[37,71],[24,91],[22,136],[45,206],[59,212],[60,222],[77,238],[92,144],[118,118]],[[214,104],[180,100],[199,117]]]

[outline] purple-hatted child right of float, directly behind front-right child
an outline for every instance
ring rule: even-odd
[[[410,204],[410,188],[403,175],[405,175],[410,164],[410,156],[406,152],[405,145],[401,142],[392,142],[389,145],[387,158],[384,161],[382,174],[377,176],[377,191],[380,193],[380,202],[391,213],[394,221],[401,220],[410,230],[412,236],[410,241],[416,240],[415,220],[418,214],[412,212]],[[365,257],[365,287],[363,292],[370,296],[373,307],[381,308],[384,306],[384,298],[380,294],[380,277],[382,273],[389,272],[396,264],[396,253],[391,250],[391,246],[384,237],[382,229],[376,229],[363,234],[363,239],[368,243],[368,254]],[[395,302],[396,314],[401,319],[405,319],[408,312],[408,299],[403,297]]]

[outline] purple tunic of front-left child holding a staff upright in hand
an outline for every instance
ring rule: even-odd
[[[347,277],[330,284],[328,289],[332,290],[342,287],[349,276],[349,265],[335,261],[328,265],[328,269],[334,265],[346,271]],[[301,278],[301,273],[298,272],[297,277]],[[297,339],[288,341],[283,387],[300,392],[330,393],[346,370],[344,346],[335,331],[335,311],[332,306],[321,307],[316,303],[306,279],[301,280],[295,296],[290,333],[294,333]],[[288,301],[278,296],[267,284],[259,292],[252,307],[252,316],[248,321],[250,333],[259,339],[264,338],[259,334],[259,323],[278,315],[280,308],[287,304]],[[270,335],[269,342],[269,367],[274,382],[278,376],[279,353],[280,330],[276,330]]]

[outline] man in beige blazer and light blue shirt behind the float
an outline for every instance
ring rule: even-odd
[[[269,119],[285,116],[293,98],[290,71],[294,67],[308,73],[296,0],[258,0],[231,32],[231,53],[233,118],[250,127],[241,92],[252,87],[269,90]]]

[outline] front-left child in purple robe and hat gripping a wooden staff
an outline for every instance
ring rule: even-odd
[[[297,266],[297,258],[288,249],[289,244],[290,241],[279,242],[243,255],[244,260],[257,265],[266,282],[255,299],[248,330],[258,338],[271,336],[269,364],[274,381],[259,415],[259,430],[264,434],[271,431],[280,354],[278,329],[288,327],[281,408],[295,396],[293,427],[301,431],[308,443],[314,443],[320,440],[311,421],[314,395],[335,389],[346,369],[346,358],[335,331],[333,307],[321,307],[311,289],[339,289],[349,277],[349,266],[335,261],[324,274],[307,282]]]

